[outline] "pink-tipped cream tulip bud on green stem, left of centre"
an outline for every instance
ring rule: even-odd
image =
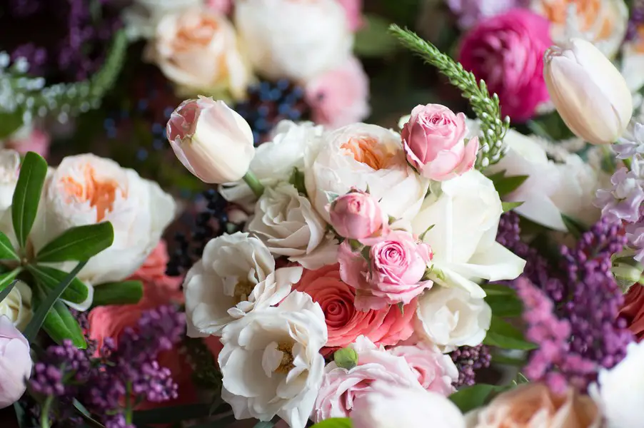
[[[178,160],[204,183],[241,180],[255,156],[251,127],[212,98],[183,101],[172,112],[166,133]]]

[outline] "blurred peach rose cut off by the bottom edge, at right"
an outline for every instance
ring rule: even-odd
[[[573,389],[550,392],[545,384],[522,384],[498,395],[483,409],[466,415],[468,428],[599,428],[593,399]]]

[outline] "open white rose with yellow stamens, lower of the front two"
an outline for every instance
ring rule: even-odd
[[[322,384],[326,340],[320,305],[297,291],[278,307],[224,328],[221,397],[236,419],[270,421],[278,415],[291,428],[306,427]]]

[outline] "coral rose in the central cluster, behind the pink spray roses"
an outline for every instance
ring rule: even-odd
[[[353,343],[364,335],[377,345],[396,345],[413,333],[413,315],[416,300],[403,307],[359,311],[353,305],[356,290],[340,279],[338,265],[327,265],[318,270],[304,270],[294,290],[306,292],[318,302],[324,312],[328,341],[322,353],[328,355]]]

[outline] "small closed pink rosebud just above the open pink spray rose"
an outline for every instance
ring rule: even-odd
[[[386,224],[378,201],[361,191],[353,191],[334,200],[329,216],[336,233],[347,239],[368,238]]]

